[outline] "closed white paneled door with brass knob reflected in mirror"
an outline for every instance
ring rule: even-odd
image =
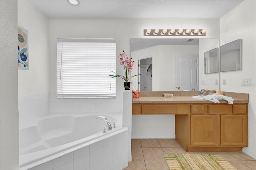
[[[176,56],[176,90],[199,91],[198,55]]]

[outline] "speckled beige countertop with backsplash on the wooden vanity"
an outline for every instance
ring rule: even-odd
[[[181,92],[179,94],[176,91],[175,93],[172,93],[174,94],[173,97],[163,97],[163,93],[172,92],[140,92],[140,98],[133,99],[132,103],[213,103],[208,100],[193,99],[192,96],[198,95],[196,92]],[[224,92],[224,95],[232,97],[234,103],[249,103],[249,94],[247,93]],[[228,102],[220,100],[220,103]]]

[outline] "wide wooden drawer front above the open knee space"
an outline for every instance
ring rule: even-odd
[[[144,115],[176,114],[176,105],[142,105],[141,113]]]

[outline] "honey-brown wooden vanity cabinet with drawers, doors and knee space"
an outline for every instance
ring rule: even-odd
[[[248,103],[133,103],[133,115],[175,114],[186,151],[241,151],[248,146]]]

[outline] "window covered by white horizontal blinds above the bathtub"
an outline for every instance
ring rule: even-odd
[[[57,98],[116,97],[116,40],[58,39]]]

